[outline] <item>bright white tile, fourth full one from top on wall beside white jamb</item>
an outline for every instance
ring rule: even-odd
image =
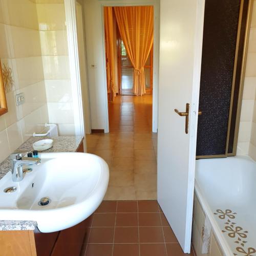
[[[70,80],[45,80],[48,102],[72,102]]]

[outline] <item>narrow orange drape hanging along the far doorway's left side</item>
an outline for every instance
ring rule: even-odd
[[[114,77],[114,41],[113,41],[113,8],[104,7],[105,25],[105,54],[106,54],[106,79],[109,93],[109,100],[113,101],[116,97],[115,77]]]

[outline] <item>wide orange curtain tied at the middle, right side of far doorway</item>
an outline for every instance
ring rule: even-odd
[[[127,55],[134,67],[133,92],[146,93],[144,66],[153,46],[153,6],[114,7]]]

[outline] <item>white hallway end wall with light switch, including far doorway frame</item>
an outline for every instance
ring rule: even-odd
[[[157,102],[158,92],[158,0],[83,0],[84,1],[84,23],[86,30],[86,48],[88,64],[88,83],[90,94],[91,127],[92,129],[104,129],[109,131],[108,124],[108,101],[106,97],[106,74],[105,74],[105,52],[104,52],[104,29],[103,29],[103,6],[120,5],[154,5],[154,94],[153,94],[153,119],[156,121],[153,127],[157,127]],[[90,68],[97,65],[97,68]]]

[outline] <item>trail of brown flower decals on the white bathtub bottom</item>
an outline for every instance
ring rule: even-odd
[[[218,215],[219,219],[226,222],[223,223],[223,230],[222,232],[227,234],[227,236],[231,239],[234,239],[234,243],[237,243],[239,246],[236,247],[236,252],[234,255],[243,255],[243,256],[256,256],[256,249],[253,247],[246,247],[246,238],[248,236],[248,231],[244,230],[242,227],[238,226],[236,222],[231,220],[236,219],[236,212],[233,212],[230,209],[221,210],[217,209],[214,212],[215,215]],[[231,220],[230,220],[231,219]]]

